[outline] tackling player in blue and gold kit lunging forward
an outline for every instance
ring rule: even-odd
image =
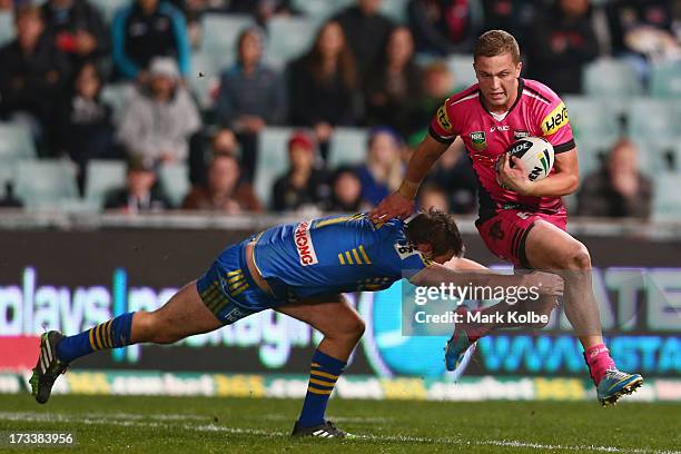
[[[431,210],[407,221],[376,224],[365,214],[332,216],[273,227],[229,246],[198,279],[158,310],[120,315],[65,337],[42,335],[31,377],[39,403],[69,364],[95,351],[137,343],[170,344],[207,333],[264,309],[303,320],[324,334],[313,358],[303,411],[293,435],[344,437],[324,418],[328,398],[364,323],[343,293],[379,290],[405,277],[415,285],[460,283],[455,269],[482,266],[462,258],[458,228],[448,215]],[[448,267],[442,264],[448,263]],[[562,293],[554,275],[467,274],[465,284],[540,285],[545,295]],[[463,283],[462,283],[463,284]],[[399,310],[396,308],[396,310]]]

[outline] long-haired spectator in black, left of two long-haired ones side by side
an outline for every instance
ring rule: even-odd
[[[326,22],[312,50],[289,67],[290,120],[312,127],[326,160],[335,126],[357,122],[357,72],[338,22]]]

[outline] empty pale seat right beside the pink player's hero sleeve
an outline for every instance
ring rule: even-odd
[[[619,136],[618,115],[596,99],[566,96],[563,98],[575,139],[613,141]]]

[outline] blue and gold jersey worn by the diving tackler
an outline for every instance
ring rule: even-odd
[[[255,263],[277,297],[381,290],[432,264],[404,227],[401,219],[376,224],[366,214],[282,225],[257,237]]]

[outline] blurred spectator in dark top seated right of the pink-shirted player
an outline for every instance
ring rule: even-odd
[[[605,165],[584,178],[578,195],[578,215],[648,219],[652,195],[652,181],[639,170],[635,145],[621,139]]]

